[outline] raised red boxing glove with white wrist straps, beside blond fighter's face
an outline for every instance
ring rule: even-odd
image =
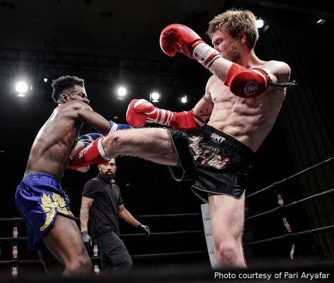
[[[195,31],[180,23],[173,23],[162,30],[160,47],[168,56],[174,57],[176,52],[182,52],[206,68],[221,57],[221,54],[207,45]]]

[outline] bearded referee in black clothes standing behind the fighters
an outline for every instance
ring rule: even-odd
[[[149,227],[141,224],[125,209],[120,188],[115,185],[117,170],[115,159],[98,166],[96,178],[84,185],[80,209],[81,235],[85,246],[92,245],[88,234],[88,219],[91,219],[91,235],[101,255],[102,272],[126,272],[132,267],[132,258],[120,239],[118,218],[142,229],[149,236]]]

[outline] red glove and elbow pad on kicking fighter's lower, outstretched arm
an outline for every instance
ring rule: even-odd
[[[134,99],[127,108],[127,122],[133,127],[142,127],[145,123],[158,123],[173,129],[200,129],[205,122],[194,111],[171,112],[156,108],[144,99]]]

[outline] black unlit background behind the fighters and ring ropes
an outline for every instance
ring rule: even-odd
[[[18,216],[14,202],[16,186],[25,171],[35,135],[56,106],[51,99],[50,80],[64,74],[82,77],[93,110],[120,123],[125,122],[129,101],[149,99],[151,91],[162,95],[156,106],[174,111],[190,110],[202,97],[209,71],[183,55],[168,58],[159,47],[160,32],[170,23],[188,25],[209,42],[205,32],[213,16],[227,8],[249,8],[267,25],[265,32],[260,30],[255,53],[260,59],[277,59],[290,64],[289,59],[280,54],[268,54],[265,42],[268,33],[288,30],[296,42],[294,52],[306,62],[308,79],[316,85],[316,99],[323,105],[327,117],[333,120],[330,69],[333,66],[334,11],[328,1],[12,0],[0,3],[1,218]],[[317,25],[319,18],[325,18],[326,23]],[[42,81],[45,77],[49,79],[47,83]],[[25,98],[16,96],[17,79],[26,79],[33,86]],[[293,68],[292,79],[296,79]],[[298,83],[303,85],[306,81]],[[128,89],[124,100],[118,100],[115,95],[120,84]],[[185,105],[180,103],[184,94],[190,98]],[[286,100],[292,95],[293,91]],[[294,112],[289,114],[294,115]],[[90,129],[84,127],[83,131]],[[289,138],[281,114],[255,154],[248,193],[298,171],[292,161],[294,149],[289,146]],[[191,183],[175,182],[166,166],[122,156],[117,158],[117,167],[117,184],[125,207],[132,214],[200,212],[201,202],[190,191]],[[79,216],[82,187],[96,173],[96,167],[92,166],[86,174],[74,171],[64,174],[62,186],[76,216]],[[304,194],[300,184],[294,181],[287,184],[283,195],[288,203]],[[276,203],[274,194],[265,193],[248,203],[248,213],[272,209]],[[149,224],[152,232],[202,229],[200,217],[142,221]],[[294,231],[310,228],[303,206],[289,210],[289,221]],[[272,216],[252,221],[249,226],[253,238],[262,239],[284,233],[281,222],[279,216]],[[0,225],[1,236],[11,236],[11,226]],[[134,230],[122,224],[121,232],[133,233]],[[301,238],[298,241],[301,253],[310,253],[314,241],[313,237]],[[126,243],[132,255],[205,249],[202,236],[136,238]],[[258,258],[288,259],[289,245],[258,246],[250,252],[250,262]],[[6,259],[4,253],[1,258]],[[207,256],[203,255],[200,260],[207,260]]]

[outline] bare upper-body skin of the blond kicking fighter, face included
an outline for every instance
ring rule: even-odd
[[[224,85],[226,70],[231,66],[228,60],[234,59],[246,69],[265,69],[274,82],[289,81],[289,66],[284,62],[260,60],[253,51],[248,57],[239,58],[238,45],[234,45],[231,36],[221,31],[214,33],[212,42],[214,49],[221,52],[223,56],[215,60],[209,68],[214,76],[207,81],[205,97],[214,105],[202,99],[195,106],[195,114],[205,120],[209,119],[208,125],[229,134],[256,151],[275,123],[285,97],[285,89],[283,91],[269,87],[267,91],[255,98],[235,96],[229,87]]]

